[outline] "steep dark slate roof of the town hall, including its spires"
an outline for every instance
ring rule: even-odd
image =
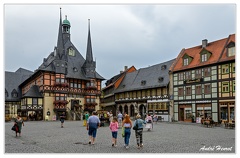
[[[90,25],[90,24],[89,24]],[[64,34],[64,36],[63,36]],[[59,32],[57,39],[57,47],[54,48],[56,53],[52,52],[47,58],[43,59],[43,63],[39,66],[36,71],[50,71],[55,72],[56,63],[64,63],[67,66],[67,71],[62,70],[62,73],[66,74],[66,78],[75,78],[82,80],[89,80],[90,78],[97,78],[100,80],[105,80],[101,75],[99,75],[96,71],[92,73],[93,75],[87,76],[85,72],[85,64],[86,60],[88,62],[93,63],[95,65],[95,61],[93,61],[92,55],[92,45],[91,45],[91,37],[90,37],[90,29],[88,31],[88,42],[87,42],[87,54],[86,60],[83,58],[81,53],[77,50],[77,48],[73,45],[69,36],[66,36],[68,33],[62,32],[62,18],[61,18],[61,10],[60,10],[60,22],[59,22]],[[75,56],[68,55],[69,48],[72,48],[75,51]],[[64,50],[64,51],[63,51]],[[90,64],[91,64],[90,63]],[[94,67],[95,69],[95,67]]]

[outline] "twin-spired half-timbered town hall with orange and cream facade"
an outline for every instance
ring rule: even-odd
[[[60,9],[57,46],[39,68],[19,84],[22,96],[18,113],[22,116],[34,113],[41,120],[66,112],[68,119],[80,119],[83,111],[99,109],[104,78],[96,72],[93,60],[90,20],[86,59],[71,42],[70,27],[67,16],[62,21]]]

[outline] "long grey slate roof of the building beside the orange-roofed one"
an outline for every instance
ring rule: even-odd
[[[120,86],[114,92],[119,93],[167,86],[169,84],[168,70],[174,60],[127,73]],[[165,68],[163,69],[164,66]]]

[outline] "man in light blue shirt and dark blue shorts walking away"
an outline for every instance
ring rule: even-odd
[[[87,130],[89,136],[89,144],[94,145],[95,139],[97,136],[97,129],[100,127],[100,120],[97,116],[97,112],[93,111],[92,116],[90,116],[87,120]]]

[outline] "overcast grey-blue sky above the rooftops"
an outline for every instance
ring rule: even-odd
[[[57,45],[59,8],[71,41],[86,58],[88,19],[96,70],[106,79],[123,70],[159,64],[183,48],[236,33],[234,4],[5,5],[5,71],[36,70]],[[105,81],[104,81],[105,83]]]

